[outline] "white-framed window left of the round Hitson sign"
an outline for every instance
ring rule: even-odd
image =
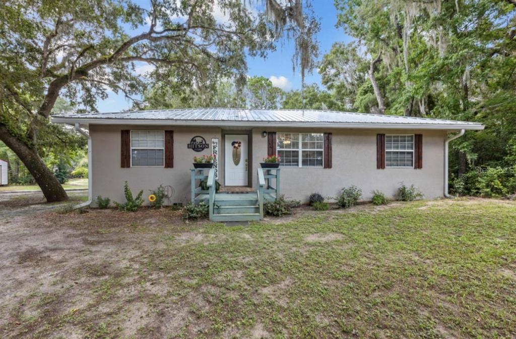
[[[163,166],[164,131],[131,131],[131,166]]]

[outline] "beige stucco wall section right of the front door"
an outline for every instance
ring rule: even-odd
[[[253,167],[267,155],[267,138],[262,132],[253,130]],[[269,130],[272,131],[272,130]],[[364,199],[372,197],[373,190],[380,190],[393,196],[399,183],[414,184],[425,198],[442,197],[444,194],[444,140],[445,131],[416,130],[361,130],[361,129],[275,129],[277,132],[331,132],[332,168],[281,169],[281,191],[287,198],[308,201],[313,192],[335,197],[343,187],[355,185],[362,189]],[[423,134],[423,168],[376,168],[376,134]],[[256,173],[253,172],[253,185]]]

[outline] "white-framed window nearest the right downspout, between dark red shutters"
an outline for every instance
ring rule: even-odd
[[[414,167],[414,135],[385,135],[385,167]]]

